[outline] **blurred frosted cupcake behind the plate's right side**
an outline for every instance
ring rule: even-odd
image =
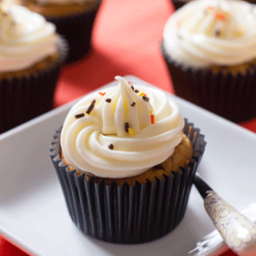
[[[175,93],[236,123],[256,116],[256,15],[244,1],[192,1],[164,29]]]

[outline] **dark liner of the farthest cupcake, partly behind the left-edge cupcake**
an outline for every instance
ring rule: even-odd
[[[65,37],[69,44],[67,62],[79,61],[88,55],[91,48],[93,23],[101,6],[101,0],[95,0],[97,5],[79,14],[63,17],[47,16],[46,19],[56,25],[58,34]]]

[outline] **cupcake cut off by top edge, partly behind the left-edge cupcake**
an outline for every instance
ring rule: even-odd
[[[79,61],[89,52],[91,33],[101,0],[22,0],[57,27],[69,44],[68,62]]]

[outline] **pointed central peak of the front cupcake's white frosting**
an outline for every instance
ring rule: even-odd
[[[106,93],[99,105],[102,112],[102,133],[118,137],[135,135],[151,124],[152,106],[147,101],[149,98],[145,98],[142,91],[143,98],[134,93],[123,77],[115,76],[115,79],[119,81],[116,90]]]

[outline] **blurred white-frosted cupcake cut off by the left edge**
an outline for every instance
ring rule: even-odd
[[[53,107],[67,55],[55,26],[25,7],[0,5],[0,133]]]

